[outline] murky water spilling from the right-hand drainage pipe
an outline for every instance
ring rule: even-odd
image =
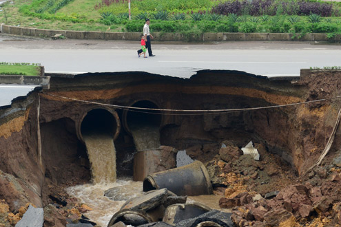
[[[157,149],[161,146],[158,126],[134,124],[130,130],[137,151]]]

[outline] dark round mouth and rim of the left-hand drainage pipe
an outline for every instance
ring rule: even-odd
[[[116,140],[121,130],[120,119],[116,111],[105,107],[93,107],[84,112],[76,124],[79,140],[84,142],[84,133],[109,133]]]

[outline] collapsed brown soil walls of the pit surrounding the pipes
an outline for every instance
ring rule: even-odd
[[[220,206],[237,207],[236,225],[260,226],[273,219],[277,222],[272,226],[289,219],[302,224],[324,219],[335,224],[340,221],[336,207],[340,194],[333,190],[341,184],[341,162],[335,158],[340,153],[338,127],[322,164],[309,169],[335,127],[341,108],[335,98],[340,96],[340,85],[340,71],[307,70],[300,78],[286,80],[227,71],[202,71],[190,79],[143,72],[54,75],[50,89],[34,91],[14,101],[11,108],[0,110],[0,146],[4,148],[0,154],[0,195],[9,205],[8,213],[18,213],[28,202],[45,207],[61,201],[74,204],[78,213],[85,212],[87,208],[63,194],[66,186],[92,179],[81,138],[84,116],[94,109],[101,110],[94,111],[95,119],[104,118],[103,111],[113,119],[117,114],[119,122],[113,120],[112,124],[117,129],[112,130],[116,173],[132,176],[136,146],[125,107],[136,103],[150,107],[152,103],[161,109],[152,118],[156,120],[150,121],[160,129],[161,145],[186,150],[191,158],[207,165],[214,191],[223,197]],[[314,100],[320,101],[310,102]],[[307,103],[291,105],[298,102]],[[176,113],[167,109],[221,111]],[[134,119],[144,122],[145,113],[136,112]],[[258,149],[260,161],[242,155],[240,149],[249,141]],[[250,200],[273,191],[280,194],[267,205]],[[287,199],[294,197],[289,192],[304,199],[294,204]],[[322,197],[331,199],[324,202]],[[275,208],[285,214],[282,219],[269,214]],[[56,210],[63,217],[77,216],[76,211],[67,211],[62,205]],[[46,221],[57,222],[54,218]]]

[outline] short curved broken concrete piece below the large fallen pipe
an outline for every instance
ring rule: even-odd
[[[176,225],[185,219],[191,219],[207,213],[211,208],[203,204],[174,204],[168,206],[163,216],[163,221],[170,225]]]

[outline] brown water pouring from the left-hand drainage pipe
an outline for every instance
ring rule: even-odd
[[[114,140],[107,133],[83,135],[89,156],[94,184],[116,181],[116,150]]]

